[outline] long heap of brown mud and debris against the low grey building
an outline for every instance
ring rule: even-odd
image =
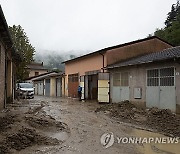
[[[167,109],[137,108],[129,101],[114,104],[104,104],[95,112],[109,112],[111,117],[144,128],[150,128],[169,136],[180,137],[180,116]]]

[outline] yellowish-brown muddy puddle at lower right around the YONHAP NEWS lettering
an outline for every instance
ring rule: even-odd
[[[141,138],[168,138],[159,133],[153,133],[145,130],[133,129],[131,135]],[[178,143],[143,143],[138,145],[138,151],[144,154],[179,154],[180,140]]]

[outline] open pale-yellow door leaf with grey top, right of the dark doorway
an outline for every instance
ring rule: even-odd
[[[98,73],[98,102],[109,103],[109,73]]]

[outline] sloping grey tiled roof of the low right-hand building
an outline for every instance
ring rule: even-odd
[[[122,66],[139,65],[139,64],[151,63],[155,61],[161,61],[161,60],[167,60],[167,59],[173,59],[179,57],[180,57],[180,46],[177,46],[173,48],[164,49],[160,52],[154,52],[144,56],[132,58],[123,62],[119,62],[117,64],[110,65],[107,68],[111,69]]]

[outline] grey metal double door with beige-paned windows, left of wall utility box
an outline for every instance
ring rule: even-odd
[[[118,103],[129,100],[129,73],[118,72],[112,74],[112,102]]]

